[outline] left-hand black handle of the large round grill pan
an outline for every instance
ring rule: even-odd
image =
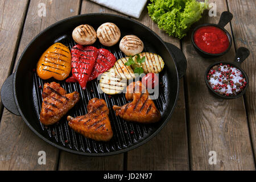
[[[1,88],[1,100],[7,110],[13,114],[20,115],[14,100],[13,76],[14,75],[10,75],[5,82],[3,82]]]

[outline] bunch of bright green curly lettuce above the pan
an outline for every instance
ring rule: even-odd
[[[151,0],[147,6],[148,14],[170,36],[183,38],[191,25],[201,18],[208,8],[208,0]]]

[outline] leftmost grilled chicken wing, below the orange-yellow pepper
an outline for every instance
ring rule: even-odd
[[[44,125],[52,125],[58,122],[79,101],[78,92],[67,94],[56,82],[44,84],[42,97],[40,122]]]

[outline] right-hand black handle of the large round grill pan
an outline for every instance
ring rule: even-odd
[[[182,78],[187,70],[187,59],[179,48],[168,42],[165,43],[169,51],[172,53],[172,56],[174,56],[179,78]]]

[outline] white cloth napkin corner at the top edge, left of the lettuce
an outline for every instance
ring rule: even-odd
[[[147,0],[90,0],[109,9],[139,18]]]

